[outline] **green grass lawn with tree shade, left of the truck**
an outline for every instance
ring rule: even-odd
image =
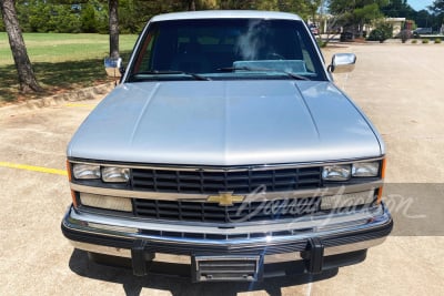
[[[0,32],[0,104],[34,99],[109,81],[103,59],[109,52],[109,37],[103,34],[23,34],[28,55],[44,92],[23,98],[18,89],[8,35]],[[120,35],[120,52],[128,61],[137,35]]]

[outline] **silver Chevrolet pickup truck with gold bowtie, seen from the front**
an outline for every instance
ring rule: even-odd
[[[135,275],[185,265],[193,282],[364,261],[393,221],[384,143],[332,81],[354,62],[326,67],[290,13],[152,18],[68,146],[64,236]]]

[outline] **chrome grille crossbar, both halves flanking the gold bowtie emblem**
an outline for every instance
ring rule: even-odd
[[[284,200],[284,198],[330,196],[330,195],[335,195],[335,194],[346,194],[346,193],[357,193],[357,192],[371,191],[371,190],[375,190],[382,185],[383,185],[383,181],[379,180],[379,181],[367,182],[367,183],[362,183],[362,184],[330,186],[330,187],[315,188],[315,190],[252,193],[252,194],[245,194],[245,196],[246,196],[245,201],[249,201],[249,200],[273,201],[273,200]],[[104,188],[104,187],[92,187],[92,186],[79,185],[75,183],[70,183],[70,186],[71,186],[71,190],[77,191],[77,192],[118,196],[118,197],[128,197],[128,198],[204,202],[209,197],[209,194],[125,191],[125,190],[114,190],[114,188]]]

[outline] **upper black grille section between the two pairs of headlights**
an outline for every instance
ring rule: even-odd
[[[266,191],[315,188],[321,186],[321,167],[274,169],[240,172],[133,169],[135,191],[214,194],[223,191],[250,193],[260,186]]]

